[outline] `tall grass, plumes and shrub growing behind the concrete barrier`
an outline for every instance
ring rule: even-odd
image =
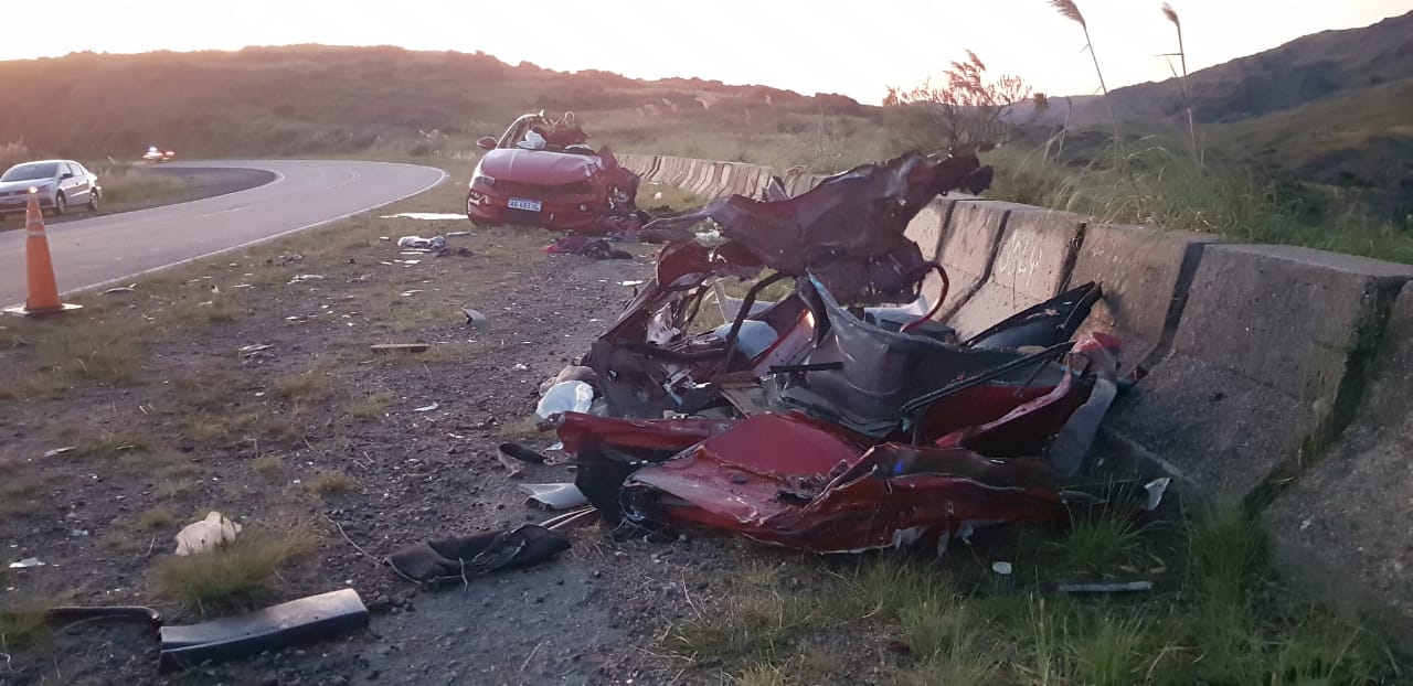
[[[1095,55],[1081,7],[1070,0],[1050,4],[1061,20],[1084,31],[1084,49]],[[1378,210],[1358,188],[1303,183],[1258,167],[1253,148],[1242,140],[1256,134],[1248,123],[1212,127],[1194,120],[1193,102],[1204,93],[1188,90],[1181,17],[1171,6],[1161,10],[1154,7],[1154,21],[1166,20],[1176,30],[1176,52],[1166,55],[1180,86],[1181,107],[1174,117],[1119,119],[1096,55],[1092,62],[1106,131],[1068,128],[1072,104],[1033,95],[1017,76],[989,75],[974,54],[952,62],[933,82],[892,89],[886,104],[911,110],[918,130],[927,133],[918,138],[924,147],[928,140],[933,147],[998,144],[982,154],[996,168],[989,198],[1092,215],[1099,222],[1413,263],[1413,216]],[[1036,11],[1043,11],[1039,3]],[[1365,116],[1371,127],[1383,126],[1378,113],[1400,110],[1386,100],[1371,104],[1375,114]],[[1324,103],[1296,112],[1304,128],[1316,126],[1308,121],[1317,119],[1311,113],[1334,114]],[[1275,144],[1266,140],[1262,147],[1272,151]]]

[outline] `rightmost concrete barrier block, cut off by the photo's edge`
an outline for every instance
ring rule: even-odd
[[[1413,617],[1406,518],[1413,504],[1413,285],[1395,302],[1375,357],[1378,374],[1354,423],[1328,457],[1272,503],[1265,521],[1277,559],[1304,580],[1352,610],[1386,604]]]

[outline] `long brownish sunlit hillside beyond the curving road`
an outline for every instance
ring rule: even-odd
[[[653,145],[673,137],[681,150],[666,151],[729,157],[787,144],[763,134],[836,138],[880,116],[834,95],[561,73],[483,54],[391,47],[10,61],[0,62],[0,92],[23,95],[0,107],[0,144],[24,141],[37,155],[79,158],[131,158],[150,144],[187,158],[466,151],[538,109],[574,110],[592,143],[616,150],[664,152]],[[722,138],[726,147],[698,138]],[[781,161],[810,154],[794,145],[800,150],[777,151]]]

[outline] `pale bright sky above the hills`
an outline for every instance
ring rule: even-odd
[[[1075,0],[1109,88],[1171,76],[1161,0]],[[1373,24],[1413,0],[1171,0],[1188,69],[1306,34]],[[1046,0],[66,0],[62,21],[7,21],[0,59],[68,52],[400,45],[482,51],[558,71],[698,76],[876,104],[966,49],[1048,95],[1098,92],[1078,24]],[[16,17],[10,17],[14,20]]]

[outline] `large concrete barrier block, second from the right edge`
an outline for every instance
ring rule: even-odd
[[[1207,495],[1299,473],[1341,429],[1413,267],[1289,246],[1207,246],[1173,353],[1109,425]]]

